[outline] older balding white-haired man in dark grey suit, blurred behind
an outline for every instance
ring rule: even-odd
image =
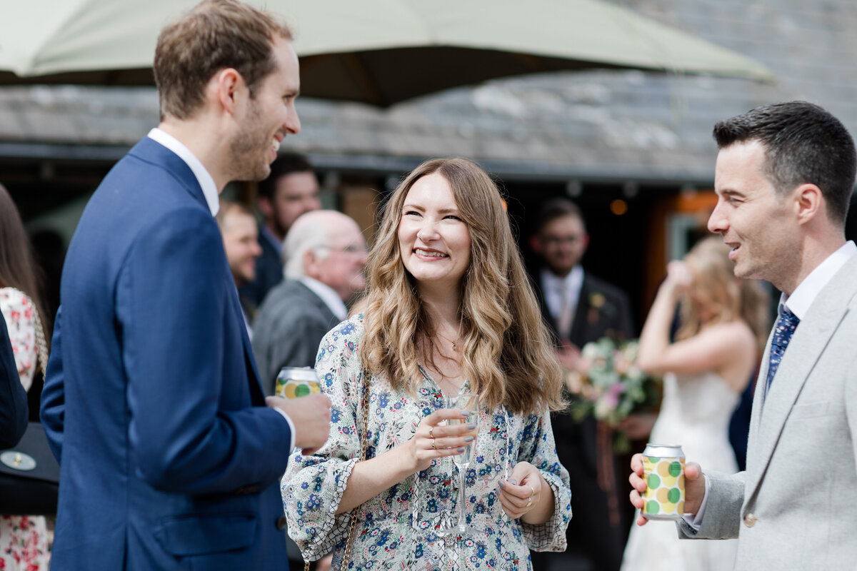
[[[366,242],[338,211],[301,215],[283,241],[285,280],[265,298],[253,324],[259,378],[273,394],[284,366],[315,366],[321,338],[347,317],[345,301],[366,285]]]

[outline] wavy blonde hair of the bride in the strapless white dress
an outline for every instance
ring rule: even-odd
[[[676,339],[696,335],[704,325],[744,321],[756,338],[756,351],[764,352],[768,340],[768,294],[756,280],[734,277],[733,263],[729,260],[729,247],[719,237],[698,241],[685,256],[685,263],[693,272],[693,294],[712,313],[703,321],[698,306],[692,302],[681,304],[681,327]]]

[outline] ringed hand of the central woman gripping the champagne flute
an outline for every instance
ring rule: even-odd
[[[435,458],[446,458],[464,454],[468,444],[476,440],[476,423],[447,424],[449,420],[467,419],[466,411],[454,408],[439,408],[423,417],[417,433],[411,438],[411,455],[417,472],[431,466]]]

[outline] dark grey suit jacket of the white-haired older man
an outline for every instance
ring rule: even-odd
[[[315,366],[321,338],[339,324],[324,300],[303,283],[284,280],[265,298],[253,323],[253,354],[267,395],[284,366]]]

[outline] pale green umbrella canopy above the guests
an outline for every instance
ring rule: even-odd
[[[0,83],[151,85],[196,0],[27,0],[0,18]],[[387,106],[508,75],[636,68],[772,80],[758,62],[599,0],[250,0],[295,32],[301,91]]]

